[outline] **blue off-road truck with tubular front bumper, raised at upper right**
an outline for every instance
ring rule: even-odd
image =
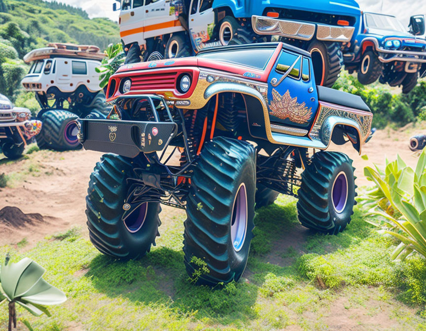
[[[425,48],[426,40],[413,37],[394,16],[363,13],[361,33],[344,50],[343,59],[349,72],[357,71],[361,84],[379,79],[408,93],[426,64]]]

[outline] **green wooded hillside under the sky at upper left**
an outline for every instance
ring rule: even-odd
[[[9,38],[11,25],[23,32],[18,42]],[[0,36],[11,40],[20,57],[46,42],[95,44],[105,49],[109,43],[119,41],[115,22],[89,19],[82,9],[41,0],[0,0]]]

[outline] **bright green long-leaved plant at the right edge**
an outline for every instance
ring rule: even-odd
[[[413,251],[426,257],[426,151],[419,158],[416,170],[407,166],[398,156],[386,160],[383,173],[377,168],[364,168],[365,176],[375,183],[362,199],[376,205],[368,215],[382,217],[382,234],[390,234],[401,241],[392,253],[392,259],[403,260]],[[368,223],[373,224],[371,221]]]

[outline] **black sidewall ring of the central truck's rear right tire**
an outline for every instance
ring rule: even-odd
[[[342,212],[338,213],[333,205],[332,200],[332,190],[333,190],[333,183],[336,179],[336,177],[341,173],[345,172],[346,178],[348,180],[348,197],[346,199],[346,206],[342,210]],[[337,166],[334,171],[333,175],[331,176],[331,179],[329,181],[329,190],[328,190],[328,209],[330,213],[330,218],[333,219],[336,227],[340,226],[341,228],[345,228],[347,224],[349,224],[351,220],[351,215],[354,209],[355,204],[355,177],[354,177],[354,170],[352,168],[352,165],[349,163],[343,163],[339,166]]]

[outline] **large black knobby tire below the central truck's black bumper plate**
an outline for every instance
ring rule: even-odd
[[[118,259],[137,259],[155,245],[161,224],[159,203],[143,203],[125,220],[126,179],[134,177],[130,159],[105,154],[90,175],[86,197],[90,241],[103,254]]]

